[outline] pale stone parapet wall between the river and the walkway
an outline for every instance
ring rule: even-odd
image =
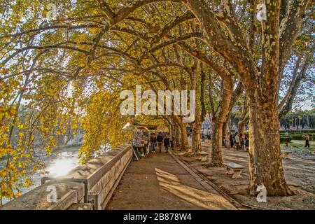
[[[132,160],[132,146],[123,144],[58,178],[44,177],[41,186],[4,204],[3,210],[105,209],[125,169]],[[50,202],[55,189],[56,202]],[[49,198],[48,198],[49,197]]]

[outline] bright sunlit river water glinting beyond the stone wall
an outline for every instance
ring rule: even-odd
[[[43,164],[45,165],[45,175],[40,174],[43,170],[36,172],[35,174],[29,174],[26,178],[30,178],[33,186],[29,188],[20,188],[21,193],[27,193],[41,185],[41,178],[43,176],[58,177],[63,176],[74,167],[78,166],[78,149],[80,146],[67,146],[58,151],[58,155],[50,155],[43,158]],[[2,199],[2,204],[9,202],[7,199]]]

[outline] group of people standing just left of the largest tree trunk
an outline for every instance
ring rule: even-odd
[[[233,134],[231,132],[226,132],[223,143],[226,148],[235,148],[237,151],[239,151],[239,149],[246,150],[247,140],[248,137],[246,134],[238,134],[237,132]]]

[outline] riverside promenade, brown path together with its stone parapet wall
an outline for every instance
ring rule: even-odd
[[[0,210],[237,209],[170,150],[133,159],[123,144],[4,204]]]

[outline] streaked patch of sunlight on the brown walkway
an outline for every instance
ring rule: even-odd
[[[221,195],[183,185],[176,175],[162,169],[155,168],[155,173],[163,189],[186,202],[203,209],[235,209]]]

